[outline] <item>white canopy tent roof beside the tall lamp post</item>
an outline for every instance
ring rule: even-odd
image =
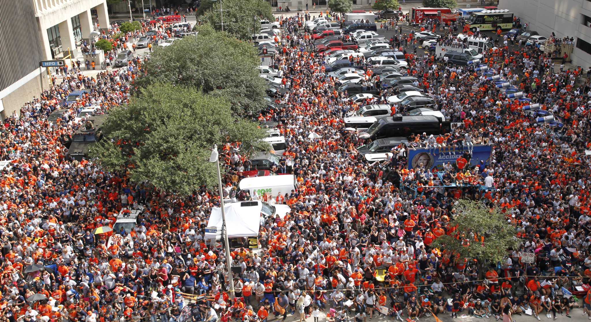
[[[228,238],[258,236],[261,209],[262,205],[259,202],[226,203],[224,211],[226,212]],[[221,208],[212,208],[207,226],[217,226],[218,231],[222,229]]]

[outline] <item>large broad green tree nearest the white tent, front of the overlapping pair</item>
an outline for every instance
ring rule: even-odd
[[[269,149],[264,130],[233,116],[228,100],[172,83],[139,89],[128,105],[109,112],[102,132],[90,155],[103,167],[180,195],[216,185],[213,144],[239,141],[245,154]]]

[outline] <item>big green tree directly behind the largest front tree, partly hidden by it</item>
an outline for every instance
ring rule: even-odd
[[[171,83],[189,86],[230,101],[236,114],[264,106],[267,84],[258,76],[257,52],[249,42],[197,28],[198,37],[185,37],[168,47],[156,48],[145,64],[138,86]]]

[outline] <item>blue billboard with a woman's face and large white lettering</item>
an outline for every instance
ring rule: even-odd
[[[467,147],[464,147],[467,149]],[[438,171],[443,171],[443,165],[447,162],[451,163],[452,165],[456,163],[456,159],[463,155],[465,150],[460,150],[456,147],[456,151],[452,150],[450,152],[447,151],[443,153],[443,150],[436,148],[436,149],[428,149],[427,147],[423,147],[421,149],[408,149],[408,169],[413,169],[415,167],[419,167],[421,163],[426,169],[432,170],[433,168],[437,168]],[[472,150],[472,159],[470,159],[470,165],[475,166],[480,163],[480,160],[484,160],[484,162],[488,165],[491,159],[492,154],[492,146],[489,145],[475,145],[474,149]]]

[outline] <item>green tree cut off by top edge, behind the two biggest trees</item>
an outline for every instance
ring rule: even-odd
[[[197,10],[197,19],[222,29],[218,1],[204,0]],[[222,0],[224,31],[240,40],[251,40],[261,30],[260,19],[275,21],[271,5],[266,0]],[[201,16],[201,17],[200,17]]]

